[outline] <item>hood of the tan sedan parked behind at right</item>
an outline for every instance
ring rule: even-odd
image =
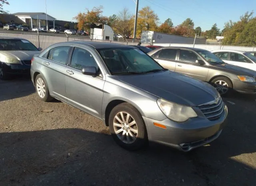
[[[249,75],[249,76],[256,76],[256,71],[250,70],[248,68],[244,68],[241,66],[235,66],[232,64],[217,64],[217,65],[212,65],[216,68],[222,68],[223,70],[227,72],[232,72],[233,74],[236,75]]]

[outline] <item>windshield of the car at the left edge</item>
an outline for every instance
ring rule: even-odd
[[[32,50],[38,51],[36,46],[28,40],[0,39],[0,50]]]

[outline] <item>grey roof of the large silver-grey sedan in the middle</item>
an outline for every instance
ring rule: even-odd
[[[89,45],[96,49],[102,48],[132,48],[132,46],[124,45],[124,44],[116,44],[109,42],[93,42],[93,41],[70,41],[64,42],[66,44],[81,44],[81,45]]]

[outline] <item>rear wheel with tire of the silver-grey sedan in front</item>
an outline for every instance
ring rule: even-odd
[[[52,96],[50,96],[46,80],[41,74],[38,74],[36,76],[35,86],[37,95],[40,98],[40,100],[43,100],[44,102],[53,100]]]

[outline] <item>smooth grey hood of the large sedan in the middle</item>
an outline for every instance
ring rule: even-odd
[[[177,104],[198,106],[218,97],[216,89],[208,83],[176,72],[119,75],[114,78]]]

